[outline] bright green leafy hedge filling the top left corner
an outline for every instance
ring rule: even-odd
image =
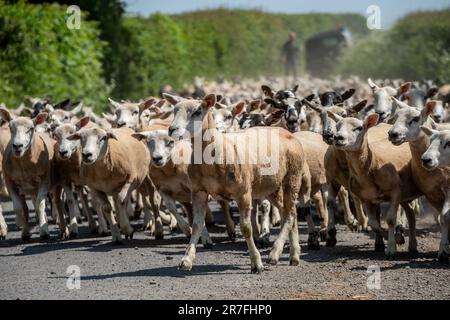
[[[83,19],[70,30],[65,19],[63,6],[0,1],[0,102],[13,108],[31,95],[104,103],[105,44],[96,24]]]

